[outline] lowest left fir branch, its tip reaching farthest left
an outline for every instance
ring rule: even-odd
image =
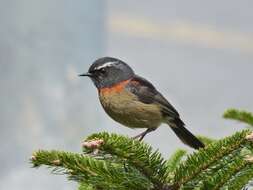
[[[40,150],[33,154],[31,162],[34,167],[49,166],[54,174],[66,174],[70,180],[92,184],[95,189],[146,190],[152,187],[149,180],[135,169],[125,172],[122,165],[81,154]]]

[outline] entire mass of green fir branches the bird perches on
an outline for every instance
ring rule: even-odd
[[[233,118],[251,122],[250,114],[242,115]],[[227,190],[241,189],[253,178],[250,130],[221,140],[201,139],[204,149],[188,156],[178,150],[165,161],[143,142],[104,132],[88,137],[82,154],[39,150],[31,162],[67,175],[79,190]]]

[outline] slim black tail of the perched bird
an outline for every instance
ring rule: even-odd
[[[187,144],[194,149],[205,147],[197,137],[184,127],[184,122],[180,118],[175,118],[173,121],[170,120],[168,121],[168,124],[184,144]]]

